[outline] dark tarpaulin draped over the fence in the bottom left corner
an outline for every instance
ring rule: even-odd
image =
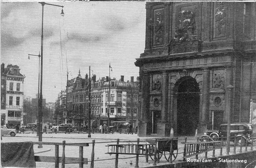
[[[36,167],[33,142],[1,143],[3,167]]]

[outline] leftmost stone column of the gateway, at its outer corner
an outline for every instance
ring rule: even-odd
[[[142,108],[141,108],[141,123],[139,124],[138,128],[138,136],[146,136],[150,134],[150,124],[149,124],[149,101],[150,101],[150,95],[149,95],[149,88],[150,88],[150,78],[149,74],[142,73],[142,83],[141,83],[141,91],[142,91]]]

